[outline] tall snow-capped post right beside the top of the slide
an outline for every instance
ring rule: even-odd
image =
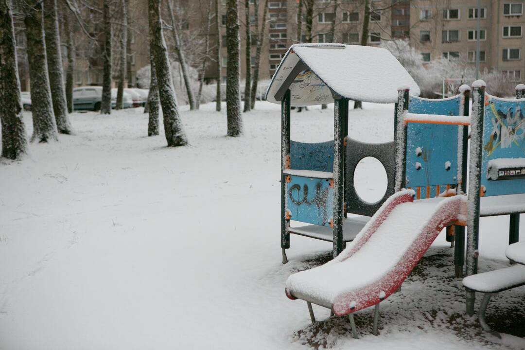
[[[483,150],[483,119],[485,116],[485,87],[482,80],[476,80],[474,101],[472,103],[471,131],[470,131],[470,164],[469,186],[467,202],[467,259],[466,274],[476,274],[478,270],[478,235],[479,235],[479,201],[481,188],[481,155]],[[473,175],[473,176],[472,176]],[[469,295],[470,294],[470,295]],[[467,313],[474,313],[475,292],[467,292]],[[469,313],[470,314],[470,313]]]

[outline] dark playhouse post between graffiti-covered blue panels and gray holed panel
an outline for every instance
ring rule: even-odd
[[[344,115],[348,101],[335,100],[334,106],[334,154],[333,154],[333,257],[343,250],[343,204],[344,204]]]

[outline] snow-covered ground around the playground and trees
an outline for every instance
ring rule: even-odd
[[[350,112],[350,136],[391,140],[393,106],[364,107]],[[142,109],[74,113],[76,135],[0,163],[0,349],[525,348],[464,315],[443,235],[381,304],[380,336],[370,309],[356,315],[359,340],[348,318],[323,321],[320,307],[310,325],[285,281],[326,261],[331,244],[292,236],[281,264],[280,106],[258,103],[235,139],[224,136],[225,109],[182,110],[188,147],[165,147],[162,130],[147,137]],[[30,113],[25,121],[30,134]],[[333,105],[292,113],[293,140],[327,141],[332,128]],[[384,176],[364,161],[365,199],[381,196]],[[480,270],[508,266],[507,244],[507,217],[481,219]],[[489,323],[523,327],[523,295],[494,298]]]

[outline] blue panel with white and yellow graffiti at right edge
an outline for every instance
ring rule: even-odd
[[[481,161],[481,186],[485,186],[486,196],[525,193],[525,179],[487,179],[489,160],[525,157],[524,111],[525,100],[502,101],[486,95]]]

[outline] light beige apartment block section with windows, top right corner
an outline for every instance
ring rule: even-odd
[[[413,0],[410,6],[411,46],[424,61],[443,57],[475,64],[480,39],[480,69],[496,69],[509,81],[525,73],[523,0]],[[478,16],[480,30],[477,31]]]

